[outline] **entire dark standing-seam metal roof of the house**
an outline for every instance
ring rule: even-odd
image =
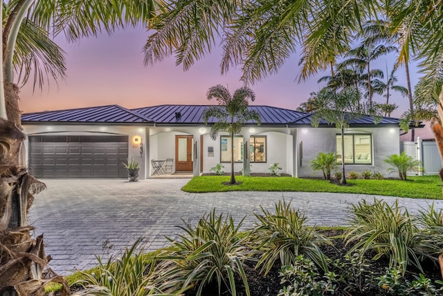
[[[128,110],[119,105],[85,107],[69,110],[27,113],[22,123],[156,123],[163,125],[204,124],[202,114],[208,105],[159,105]],[[311,113],[269,106],[249,106],[262,117],[262,125],[311,125]],[[209,123],[217,119],[211,118]],[[255,124],[253,121],[249,122]],[[399,119],[382,117],[378,125],[399,125]],[[328,125],[320,121],[320,125]],[[374,125],[371,116],[363,115],[350,121],[350,125]]]

